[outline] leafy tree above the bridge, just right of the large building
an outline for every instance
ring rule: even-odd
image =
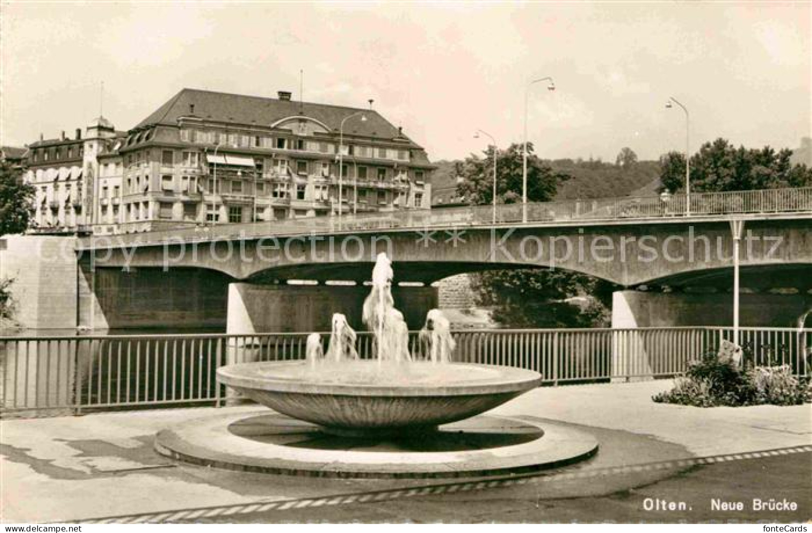
[[[496,150],[496,201],[515,204],[521,201],[522,144],[511,144],[506,150]],[[475,155],[465,158],[460,175],[464,178],[457,185],[457,192],[471,204],[485,205],[493,201],[493,149],[486,150],[485,158]],[[527,144],[527,200],[546,202],[555,197],[559,183],[568,174],[555,172],[533,153],[533,144]]]

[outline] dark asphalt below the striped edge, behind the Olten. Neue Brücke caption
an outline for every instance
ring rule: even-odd
[[[600,479],[597,483],[602,483]],[[654,484],[608,496],[545,498],[538,484],[395,501],[193,518],[176,522],[803,522],[812,518],[812,453],[696,466]],[[788,501],[795,510],[754,510],[754,499]],[[712,501],[741,504],[714,509]],[[684,509],[668,510],[672,502]],[[721,504],[719,504],[721,506]],[[658,509],[658,507],[663,509]],[[650,509],[648,509],[650,507]]]

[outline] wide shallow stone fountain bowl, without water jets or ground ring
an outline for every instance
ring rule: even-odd
[[[232,364],[218,368],[217,376],[257,403],[348,436],[415,432],[467,419],[542,379],[538,372],[485,364],[364,360],[316,367],[304,361]]]

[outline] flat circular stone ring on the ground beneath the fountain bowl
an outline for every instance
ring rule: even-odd
[[[429,436],[358,438],[267,410],[215,413],[158,433],[159,453],[237,471],[343,478],[473,477],[590,458],[594,437],[532,418],[480,415]]]

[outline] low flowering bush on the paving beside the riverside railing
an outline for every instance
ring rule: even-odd
[[[672,390],[655,394],[654,402],[684,406],[794,406],[812,400],[810,380],[798,380],[788,365],[740,369],[732,361],[720,361],[709,352],[689,363],[685,377]]]

